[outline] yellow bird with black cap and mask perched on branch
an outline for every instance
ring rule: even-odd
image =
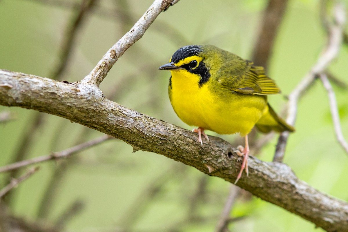
[[[237,154],[244,156],[235,184],[245,170],[248,176],[250,148],[248,134],[254,126],[269,133],[295,129],[280,118],[267,101],[267,95],[279,94],[275,81],[263,67],[213,45],[188,45],[159,67],[171,71],[168,94],[177,116],[209,142],[204,130],[217,134],[245,137],[245,146]]]

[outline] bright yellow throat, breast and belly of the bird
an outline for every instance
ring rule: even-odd
[[[176,114],[190,126],[244,136],[266,109],[265,96],[232,93],[212,81],[199,87],[195,75],[179,72],[172,71],[169,98]]]

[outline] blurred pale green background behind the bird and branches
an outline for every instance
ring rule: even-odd
[[[70,5],[80,3],[54,2],[0,1],[0,69],[50,78],[66,27],[77,12]],[[78,32],[62,80],[84,78],[151,3],[100,0]],[[167,95],[169,74],[158,71],[158,67],[188,44],[208,43],[250,58],[266,6],[267,1],[261,0],[181,0],[159,15],[143,38],[113,66],[100,88],[112,101],[191,130],[172,110]],[[325,41],[319,1],[290,0],[267,70],[282,89],[281,95],[269,97],[277,112],[282,111],[285,96],[316,62]],[[330,71],[346,82],[347,49],[343,46],[330,66]],[[337,86],[334,90],[343,134],[348,138],[347,90]],[[0,166],[11,162],[37,114],[0,106],[3,111],[12,112],[16,119],[0,124]],[[336,142],[321,82],[317,81],[301,99],[295,127],[284,162],[309,185],[347,200],[348,158]],[[30,133],[26,158],[60,151],[101,135],[45,114],[41,126]],[[221,137],[233,142],[238,135]],[[258,157],[271,161],[276,142],[275,137]],[[38,173],[13,190],[10,213],[30,222],[40,217],[40,222],[54,224],[71,204],[78,202],[82,208],[64,223],[67,231],[214,231],[230,183],[161,155],[132,150],[122,141],[111,140],[71,159],[40,164]],[[0,187],[7,184],[5,177],[0,174]],[[51,195],[45,201],[47,191]],[[231,216],[245,216],[230,224],[231,231],[322,231],[245,193],[237,199]]]

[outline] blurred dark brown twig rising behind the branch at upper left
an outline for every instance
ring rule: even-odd
[[[81,27],[82,23],[86,19],[86,15],[92,8],[95,6],[96,0],[83,0],[80,6],[80,10],[78,14],[73,15],[71,21],[68,23],[66,33],[64,35],[64,41],[62,43],[62,47],[59,55],[59,62],[54,69],[53,73],[50,75],[50,78],[59,80],[61,74],[65,70],[69,57],[72,52],[72,46],[74,45],[74,41],[76,40],[76,35],[78,29]]]

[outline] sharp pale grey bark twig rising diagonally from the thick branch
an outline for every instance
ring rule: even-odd
[[[109,49],[94,67],[92,72],[81,82],[99,86],[118,58],[120,58],[130,46],[143,37],[145,31],[162,11],[167,10],[169,6],[174,5],[176,2],[177,1],[173,0],[155,0],[145,14],[134,24],[132,29]]]

